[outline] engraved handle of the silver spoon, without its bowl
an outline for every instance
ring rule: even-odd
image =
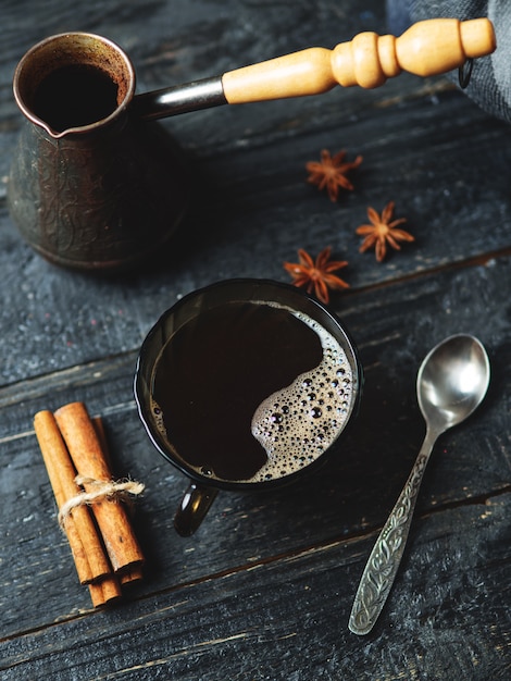
[[[372,630],[387,600],[404,552],[424,470],[439,434],[427,430],[407,483],[371,552],[348,623],[356,634],[367,634]]]

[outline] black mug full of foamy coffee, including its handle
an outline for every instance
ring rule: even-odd
[[[294,286],[227,280],[162,314],[135,375],[157,449],[190,479],[174,524],[199,527],[219,490],[267,490],[323,463],[353,420],[362,368],[341,321]]]

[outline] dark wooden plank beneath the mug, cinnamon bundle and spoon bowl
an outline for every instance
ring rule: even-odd
[[[10,565],[0,591],[5,633],[89,607],[55,524],[51,491],[32,434],[34,412],[64,401],[85,399],[92,413],[104,414],[117,474],[147,485],[137,521],[149,559],[145,594],[203,579],[210,571],[244,570],[254,561],[383,524],[424,435],[414,395],[419,362],[429,346],[451,333],[472,332],[486,343],[494,380],[470,424],[439,443],[426,471],[420,511],[509,490],[510,320],[498,310],[508,305],[510,276],[509,259],[501,259],[351,296],[344,315],[359,339],[366,381],[360,417],[338,457],[310,484],[279,495],[221,495],[204,527],[189,541],[178,538],[172,528],[185,479],[152,448],[138,421],[130,354],[116,362],[4,388],[0,406],[4,422],[11,424],[0,442],[5,509],[1,550]],[[453,315],[456,309],[460,313]],[[34,611],[23,609],[27,593],[33,603],[43,599]]]

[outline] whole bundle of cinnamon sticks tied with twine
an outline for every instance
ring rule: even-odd
[[[83,403],[39,411],[34,426],[78,579],[95,607],[117,600],[142,577],[144,555],[122,499],[144,485],[115,482],[102,421]]]

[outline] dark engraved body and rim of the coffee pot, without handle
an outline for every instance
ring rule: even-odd
[[[186,211],[186,162],[164,128],[132,113],[134,89],[124,52],[89,34],[48,38],[18,64],[14,94],[26,121],[8,205],[26,242],[57,264],[129,268],[161,249]]]

